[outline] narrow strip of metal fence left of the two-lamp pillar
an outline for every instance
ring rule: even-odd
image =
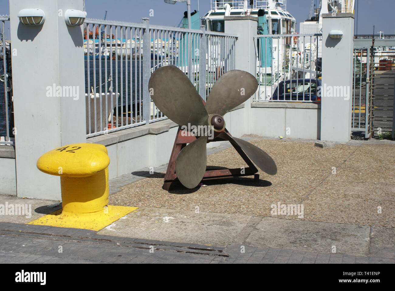
[[[8,15],[0,15],[0,145],[12,145],[13,110],[10,42],[6,41],[5,28]]]

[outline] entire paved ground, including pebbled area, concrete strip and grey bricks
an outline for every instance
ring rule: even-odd
[[[0,215],[0,263],[395,262],[393,142],[353,140],[318,149],[314,141],[278,144],[265,139],[267,144],[259,144],[262,139],[256,138],[246,139],[274,152],[282,171],[278,180],[263,180],[256,187],[244,178],[248,181],[216,181],[193,191],[166,192],[160,188],[166,165],[154,175],[142,169],[110,181],[111,204],[122,194],[122,203],[140,208],[97,233],[25,225],[60,206],[47,207],[56,201],[0,196],[0,204],[32,205],[31,217]],[[310,151],[297,151],[304,147]],[[208,149],[213,154],[209,160],[215,164],[229,150],[227,144]],[[324,160],[314,161],[320,156]],[[298,172],[309,160],[312,169]],[[331,163],[337,165],[336,175],[326,169]],[[147,187],[151,194],[144,192]],[[277,201],[305,205],[304,217],[271,215],[270,205]]]

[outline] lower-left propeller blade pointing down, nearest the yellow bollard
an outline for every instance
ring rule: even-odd
[[[201,136],[184,147],[175,161],[177,177],[186,188],[195,188],[203,179],[207,165],[207,136]]]

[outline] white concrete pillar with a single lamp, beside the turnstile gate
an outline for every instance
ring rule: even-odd
[[[341,39],[329,33],[340,30]],[[351,139],[354,14],[326,13],[322,27],[321,140]]]

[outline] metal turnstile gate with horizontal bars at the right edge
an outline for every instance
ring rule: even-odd
[[[354,40],[352,131],[394,137],[395,41]]]

